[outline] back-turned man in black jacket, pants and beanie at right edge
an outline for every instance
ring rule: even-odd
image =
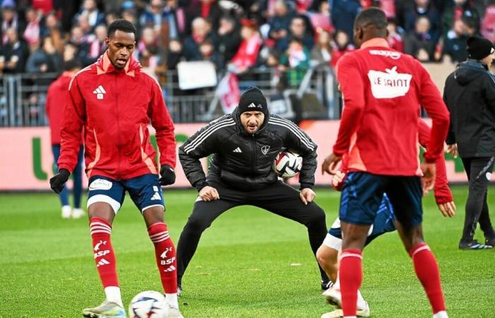
[[[487,187],[495,160],[495,76],[489,72],[495,49],[483,37],[470,37],[467,52],[467,61],[459,64],[445,81],[443,100],[450,110],[446,142],[449,153],[459,153],[470,182],[459,248],[487,249],[495,245],[487,206]],[[478,222],[485,244],[473,240]]]

